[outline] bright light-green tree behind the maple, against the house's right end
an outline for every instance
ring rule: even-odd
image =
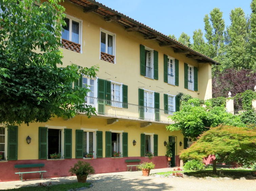
[[[216,127],[219,124],[245,127],[240,117],[227,113],[224,106],[212,106],[211,100],[206,101],[206,107],[202,107],[198,98],[189,99],[181,102],[181,109],[174,113],[170,118],[175,122],[166,129],[181,131],[184,137],[197,137],[202,132]]]

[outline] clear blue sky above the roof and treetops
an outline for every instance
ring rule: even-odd
[[[231,9],[241,7],[245,15],[251,14],[251,0],[96,0],[124,15],[131,17],[163,34],[174,34],[177,38],[182,32],[192,40],[193,31],[201,29],[204,33],[205,14],[218,7],[223,12],[225,26],[230,25]]]

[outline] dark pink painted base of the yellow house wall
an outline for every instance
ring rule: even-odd
[[[64,159],[64,160],[18,160],[18,161],[7,161],[0,162],[0,182],[6,181],[17,181],[19,175],[15,172],[19,172],[18,168],[14,168],[16,164],[37,164],[44,163],[44,167],[41,170],[46,170],[43,173],[43,178],[53,178],[61,176],[70,176],[68,170],[78,160],[89,162],[95,169],[95,173],[107,173],[107,172],[122,172],[127,171],[127,163],[125,160],[140,159],[141,162],[153,162],[155,168],[166,168],[167,158],[165,156],[152,157],[150,160],[148,157],[124,157],[124,158],[98,158],[98,159]],[[135,165],[138,163],[129,163],[129,165]],[[175,156],[176,166],[180,166],[179,156]],[[21,168],[21,172],[26,171],[38,171],[39,167],[36,168]],[[133,170],[136,170],[133,167]],[[39,179],[39,173],[28,173],[23,174],[23,180]]]

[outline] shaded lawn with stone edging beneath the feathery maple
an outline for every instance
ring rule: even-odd
[[[220,170],[222,170],[222,174],[220,174]],[[229,169],[229,168],[222,168],[222,169],[217,169],[217,174],[213,174],[213,169],[205,169],[205,170],[182,170],[182,171],[169,171],[169,172],[159,172],[157,174],[163,174],[164,176],[168,176],[169,174],[172,174],[173,172],[188,172],[188,176],[195,176],[198,178],[204,178],[206,176],[211,176],[214,178],[218,177],[229,177],[233,179],[237,179],[240,177],[248,176],[251,175],[252,170],[250,169]]]

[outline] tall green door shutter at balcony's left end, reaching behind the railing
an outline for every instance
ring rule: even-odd
[[[98,79],[98,113],[105,114],[105,80]]]

